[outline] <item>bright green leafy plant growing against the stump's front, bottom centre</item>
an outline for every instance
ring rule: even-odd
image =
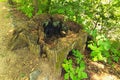
[[[66,71],[64,75],[65,80],[82,80],[87,78],[87,73],[85,72],[85,62],[83,60],[83,55],[78,50],[73,50],[73,55],[76,59],[77,66],[73,66],[73,61],[64,60],[62,64],[64,70]]]

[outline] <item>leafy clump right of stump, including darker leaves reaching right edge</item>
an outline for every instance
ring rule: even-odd
[[[95,33],[93,35],[96,35]],[[115,43],[114,43],[115,44]],[[114,44],[104,35],[97,35],[90,41],[88,47],[92,50],[90,56],[93,61],[118,62],[120,55]]]

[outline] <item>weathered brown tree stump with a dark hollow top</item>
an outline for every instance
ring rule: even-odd
[[[12,50],[27,46],[31,52],[41,57],[45,55],[54,68],[55,75],[60,76],[63,60],[72,49],[83,53],[86,40],[87,33],[79,24],[64,21],[63,15],[42,14],[33,17],[22,27],[18,25],[9,46],[12,45]]]

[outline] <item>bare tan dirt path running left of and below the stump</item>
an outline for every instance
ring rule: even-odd
[[[27,48],[15,51],[7,49],[15,24],[21,20],[27,20],[24,15],[14,11],[13,20],[11,11],[6,2],[0,2],[0,80],[29,80],[29,74],[34,70],[44,71],[50,74],[50,67],[47,60],[40,59],[38,55],[32,54]],[[52,80],[52,79],[51,79]]]

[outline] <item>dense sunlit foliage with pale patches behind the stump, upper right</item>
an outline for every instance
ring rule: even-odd
[[[97,33],[108,35],[120,26],[119,4],[119,0],[52,0],[49,13],[67,16],[82,24],[89,34],[97,29]]]

